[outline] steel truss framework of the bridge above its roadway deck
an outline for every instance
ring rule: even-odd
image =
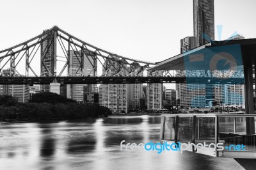
[[[65,55],[65,57],[62,58],[66,59],[65,65],[63,68],[61,68],[61,71],[58,73],[58,75],[56,72],[56,61],[60,56],[57,56],[56,52],[57,43]],[[93,76],[97,76],[97,61],[99,61],[104,70],[109,70],[109,68],[113,66],[116,71],[120,72],[120,68],[124,68],[131,75],[140,75],[150,65],[156,65],[155,63],[140,61],[138,59],[125,58],[106,50],[99,49],[93,45],[90,45],[89,43],[79,40],[79,38],[76,38],[75,36],[68,34],[59,27],[54,26],[51,29],[44,31],[44,33],[41,35],[35,36],[34,38],[31,38],[24,43],[20,43],[19,45],[15,45],[9,49],[1,50],[0,73],[3,75],[3,68],[9,65],[10,69],[8,69],[8,75],[11,77],[15,75],[20,77],[28,77],[30,72],[32,72],[33,76],[35,77],[61,76],[63,75],[65,68],[68,68],[68,70],[70,68],[70,51],[76,51],[74,54],[76,55],[76,59],[79,62],[79,66],[77,67],[76,71],[72,73],[72,75],[77,75],[77,73],[83,72],[83,60],[86,58],[93,68]],[[36,74],[34,71],[35,69],[31,65],[31,62],[33,59],[35,59],[36,52],[40,52],[41,75]],[[52,60],[51,65],[53,65],[53,68],[51,68],[52,66],[47,65],[47,59],[49,59],[48,55],[51,56],[50,59]],[[18,65],[22,65],[20,62],[22,58],[26,59],[25,75],[22,75],[22,73],[20,73],[20,71],[17,69]],[[116,63],[118,63],[118,67],[113,65],[111,61],[116,61]],[[126,65],[125,67],[124,63]],[[138,63],[140,63],[140,66],[134,66],[138,65]],[[42,72],[42,70],[45,70],[46,73]]]

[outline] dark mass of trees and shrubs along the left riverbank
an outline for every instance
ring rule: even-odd
[[[0,120],[17,119],[17,120],[48,120],[48,119],[86,119],[108,117],[111,111],[108,107],[99,104],[79,104],[74,100],[61,98],[60,95],[52,93],[38,93],[35,100],[29,103],[15,104],[12,100],[1,100]],[[47,102],[40,103],[40,97]],[[50,98],[52,97],[52,99]],[[7,97],[10,99],[10,97]],[[58,102],[60,99],[60,102]],[[3,102],[5,101],[5,102]]]

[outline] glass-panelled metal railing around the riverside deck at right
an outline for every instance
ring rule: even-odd
[[[173,146],[179,150],[256,158],[255,122],[256,114],[166,114],[162,115],[160,138],[161,143],[176,143]]]

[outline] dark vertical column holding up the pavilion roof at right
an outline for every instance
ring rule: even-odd
[[[254,113],[252,62],[244,63],[245,114]],[[246,118],[246,133],[255,134],[254,118]]]

